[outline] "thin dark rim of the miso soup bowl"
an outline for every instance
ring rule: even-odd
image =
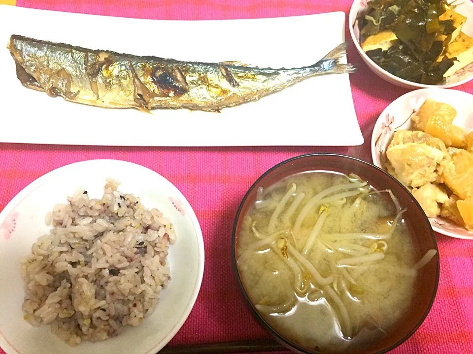
[[[431,295],[431,298],[430,298],[430,301],[429,301],[429,304],[428,304],[428,307],[427,307],[425,313],[417,321],[417,324],[409,331],[409,333],[407,335],[405,335],[403,338],[398,340],[396,343],[382,349],[381,351],[378,351],[378,352],[374,353],[374,354],[385,354],[387,352],[392,351],[396,347],[403,344],[407,339],[409,339],[417,331],[417,329],[419,329],[419,327],[423,324],[423,322],[425,321],[425,319],[429,315],[429,313],[432,309],[432,305],[434,304],[435,297],[436,297],[437,291],[438,291],[438,286],[439,286],[439,277],[440,277],[439,248],[438,248],[438,245],[437,245],[437,240],[436,240],[434,231],[432,230],[432,226],[430,225],[429,219],[425,215],[425,212],[422,209],[422,207],[420,206],[420,204],[417,202],[417,200],[409,192],[409,190],[401,182],[399,182],[396,178],[394,178],[393,176],[391,176],[390,174],[388,174],[384,170],[380,169],[379,167],[377,167],[377,166],[375,166],[375,165],[373,165],[373,164],[371,164],[367,161],[363,161],[363,160],[355,158],[355,157],[342,155],[342,154],[337,154],[337,153],[308,153],[308,154],[298,155],[298,156],[294,156],[294,157],[291,157],[289,159],[286,159],[286,160],[274,165],[273,167],[268,169],[265,173],[263,173],[260,177],[258,177],[258,179],[251,185],[251,187],[247,190],[247,192],[245,193],[243,199],[241,200],[241,202],[238,206],[238,209],[236,211],[236,216],[235,216],[235,220],[234,220],[233,227],[232,227],[232,237],[231,237],[231,242],[232,242],[232,248],[231,248],[231,250],[232,250],[232,265],[233,265],[233,269],[234,269],[234,272],[235,272],[235,275],[236,275],[236,281],[238,283],[238,288],[240,289],[240,293],[241,293],[241,295],[243,295],[243,298],[244,298],[245,302],[249,306],[253,317],[259,322],[259,324],[261,324],[266,329],[267,332],[269,332],[273,336],[273,338],[277,342],[279,342],[283,346],[285,346],[285,347],[287,347],[287,348],[289,348],[293,351],[296,351],[298,353],[303,353],[303,354],[325,354],[323,351],[308,350],[307,348],[304,348],[304,347],[298,345],[297,343],[291,341],[290,339],[288,339],[284,335],[282,335],[280,332],[278,332],[276,329],[274,329],[273,326],[271,326],[263,318],[263,316],[255,308],[254,304],[251,302],[248,294],[246,293],[245,287],[244,287],[243,282],[242,282],[241,277],[240,277],[240,273],[238,271],[238,266],[236,264],[236,259],[237,259],[237,257],[236,257],[236,229],[237,229],[237,226],[239,224],[238,220],[239,220],[239,217],[240,217],[240,213],[241,213],[243,207],[246,205],[247,200],[248,200],[251,192],[253,191],[253,189],[259,184],[259,182],[263,178],[270,175],[273,171],[275,171],[279,167],[281,167],[283,165],[286,165],[288,163],[291,163],[295,160],[299,160],[299,159],[303,159],[303,158],[311,158],[311,157],[314,157],[314,156],[317,156],[317,157],[319,157],[319,156],[320,157],[324,157],[324,156],[326,156],[326,157],[336,157],[336,158],[339,158],[339,159],[348,159],[348,160],[352,160],[354,162],[361,162],[362,164],[366,165],[367,169],[378,170],[385,177],[390,179],[392,182],[398,184],[402,189],[405,190],[405,192],[410,196],[410,198],[414,202],[415,206],[421,211],[421,214],[424,218],[424,222],[428,226],[429,235],[431,236],[433,244],[434,244],[433,249],[435,249],[437,251],[436,255],[434,256],[434,259],[435,259],[435,262],[436,262],[436,277],[435,277],[434,291],[432,292],[432,295]],[[363,352],[360,352],[360,354],[363,354]]]

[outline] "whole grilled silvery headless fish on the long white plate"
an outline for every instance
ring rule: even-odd
[[[12,35],[7,48],[22,85],[50,96],[105,108],[219,112],[313,76],[356,71],[340,62],[346,46],[340,44],[313,65],[292,69],[138,57],[20,35]]]

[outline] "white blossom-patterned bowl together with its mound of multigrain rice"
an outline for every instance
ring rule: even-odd
[[[200,290],[197,217],[166,178],[117,160],[39,177],[0,213],[0,348],[160,351]]]

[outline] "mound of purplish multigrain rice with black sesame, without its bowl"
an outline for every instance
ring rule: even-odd
[[[106,179],[102,199],[85,190],[45,217],[49,234],[22,259],[22,309],[34,326],[51,324],[69,345],[97,342],[137,326],[155,309],[169,281],[174,229],[161,211]]]

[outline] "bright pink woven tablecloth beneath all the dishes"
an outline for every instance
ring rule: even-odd
[[[350,4],[350,0],[18,0],[17,3],[50,10],[174,20],[276,17],[330,11],[348,14]],[[308,41],[316,43],[318,35],[321,34],[312,33]],[[109,148],[0,144],[0,210],[35,178],[77,161],[121,159],[157,171],[174,183],[194,207],[202,226],[206,252],[201,293],[170,345],[269,338],[246,308],[231,266],[231,226],[241,198],[267,169],[296,155],[339,152],[371,162],[373,124],[391,101],[406,92],[376,77],[361,61],[353,45],[348,50],[349,61],[360,66],[350,80],[355,110],[365,137],[361,147]],[[473,83],[458,89],[473,93]],[[473,243],[441,235],[437,235],[437,239],[440,284],[436,301],[419,330],[392,353],[473,353]],[[1,349],[0,354],[3,354]]]

